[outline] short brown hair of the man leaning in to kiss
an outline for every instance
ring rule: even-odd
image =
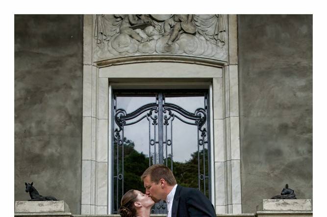
[[[151,182],[158,183],[163,178],[170,186],[177,184],[173,172],[163,164],[153,164],[146,169],[141,175],[141,180],[143,181],[148,175],[150,175]]]

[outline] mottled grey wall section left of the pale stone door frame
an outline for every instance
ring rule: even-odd
[[[15,16],[15,200],[25,182],[80,213],[83,16]]]

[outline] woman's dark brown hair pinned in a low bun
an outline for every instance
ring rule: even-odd
[[[125,193],[121,200],[121,207],[118,210],[118,214],[121,217],[135,217],[136,209],[134,202],[136,201],[137,194],[134,190],[129,190]]]

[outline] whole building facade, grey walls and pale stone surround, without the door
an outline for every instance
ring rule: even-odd
[[[207,91],[217,213],[312,198],[311,15],[16,15],[15,200],[113,213],[118,89]]]

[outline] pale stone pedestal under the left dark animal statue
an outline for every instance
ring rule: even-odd
[[[15,217],[70,217],[70,209],[63,200],[15,201]]]

